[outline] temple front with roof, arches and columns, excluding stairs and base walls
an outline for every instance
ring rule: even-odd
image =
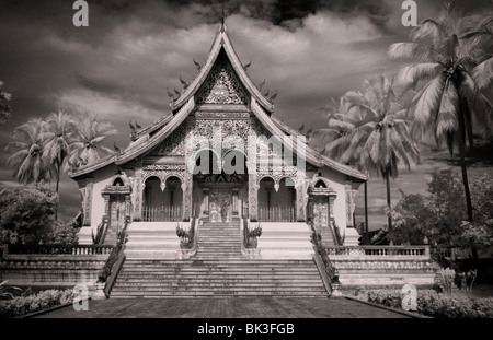
[[[250,79],[225,24],[195,79],[182,83],[169,93],[169,115],[70,173],[82,197],[80,244],[101,242],[102,225],[114,243],[125,224],[238,222],[267,234],[313,226],[328,245],[357,245],[355,195],[366,175],[316,152],[274,116],[275,96]]]

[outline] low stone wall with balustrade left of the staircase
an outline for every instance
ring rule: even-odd
[[[108,255],[8,255],[0,259],[0,281],[15,286],[92,289]]]

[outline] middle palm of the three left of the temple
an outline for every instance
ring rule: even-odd
[[[71,137],[76,133],[77,126],[69,115],[58,112],[58,114],[51,114],[47,118],[44,127],[44,154],[56,169],[57,183],[55,190],[58,194],[60,173],[62,168],[68,169],[67,160],[70,153]]]

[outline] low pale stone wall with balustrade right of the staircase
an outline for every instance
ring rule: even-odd
[[[428,246],[335,246],[326,248],[343,290],[357,286],[432,288],[439,266]]]

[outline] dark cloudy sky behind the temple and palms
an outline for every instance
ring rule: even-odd
[[[190,82],[196,74],[193,59],[205,61],[222,11],[222,1],[87,2],[89,27],[74,27],[71,0],[0,1],[0,80],[13,95],[13,118],[0,126],[1,145],[28,118],[58,109],[110,120],[119,134],[108,145],[126,145],[130,119],[146,126],[169,114],[167,89],[181,90],[180,77]],[[444,3],[415,2],[419,21],[436,15]],[[459,4],[470,10],[490,2]],[[264,90],[278,91],[275,115],[309,128],[323,127],[316,109],[331,97],[402,66],[387,55],[390,44],[408,40],[411,31],[401,24],[401,0],[234,0],[225,1],[225,16],[240,59],[252,62],[252,80],[265,79]],[[7,157],[0,150],[0,187],[16,185]],[[394,201],[399,188],[420,192],[434,168],[450,166],[443,152],[423,159],[392,183]],[[484,162],[479,164],[472,173],[484,169]],[[385,223],[383,180],[371,178],[369,188],[370,227],[378,228]],[[61,215],[76,215],[79,191],[67,176],[60,197]],[[362,210],[359,204],[358,215]]]

